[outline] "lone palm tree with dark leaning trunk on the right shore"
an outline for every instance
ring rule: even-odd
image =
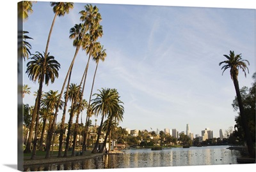
[[[248,65],[250,65],[250,63],[249,63],[249,61],[242,59],[241,54],[235,55],[234,51],[230,51],[230,54],[224,55],[224,57],[227,58],[227,61],[222,61],[222,62],[220,62],[219,65],[221,66],[221,64],[225,64],[221,68],[221,69],[223,69],[223,73],[226,69],[230,68],[230,76],[231,76],[231,79],[233,80],[234,87],[236,90],[237,102],[239,104],[239,111],[240,111],[240,115],[241,115],[241,119],[242,119],[242,125],[243,125],[243,129],[244,129],[248,152],[250,154],[250,157],[255,158],[255,149],[253,148],[252,138],[250,136],[250,130],[248,127],[247,116],[244,113],[244,106],[243,106],[241,93],[240,93],[240,89],[239,89],[239,82],[238,82],[239,69],[243,70],[244,76],[246,77],[246,70],[249,73],[246,62],[248,63]],[[222,75],[223,75],[223,73],[222,73]]]

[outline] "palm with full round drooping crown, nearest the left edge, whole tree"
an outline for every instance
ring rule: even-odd
[[[28,62],[27,67],[28,68],[26,70],[26,73],[28,73],[29,79],[33,82],[36,82],[36,80],[38,80],[39,82],[38,94],[36,97],[35,108],[32,115],[32,118],[34,118],[35,121],[31,121],[30,127],[30,132],[32,132],[34,123],[36,122],[35,138],[33,141],[33,153],[31,155],[31,159],[35,159],[36,138],[38,134],[39,110],[41,105],[43,83],[45,82],[45,84],[48,85],[50,81],[51,83],[53,83],[55,78],[58,78],[60,63],[54,60],[54,56],[49,55],[49,53],[47,55],[42,55],[40,54],[40,52],[36,52],[36,54],[31,57],[31,61]]]

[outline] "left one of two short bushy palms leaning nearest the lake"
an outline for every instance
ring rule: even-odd
[[[99,138],[102,131],[104,117],[107,117],[113,112],[113,110],[118,108],[118,94],[116,94],[115,90],[102,89],[99,90],[99,92],[99,94],[93,94],[93,96],[96,96],[96,98],[92,100],[92,111],[95,113],[95,116],[102,116],[95,147],[92,150],[93,154],[96,153],[97,147],[99,145]]]

